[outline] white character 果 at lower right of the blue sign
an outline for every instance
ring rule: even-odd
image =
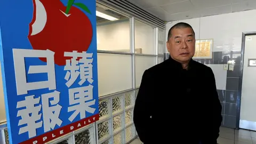
[[[90,107],[95,105],[95,99],[93,100],[93,86],[89,85],[69,89],[69,105],[74,106],[68,107],[68,112],[75,110],[68,118],[70,122],[73,122],[78,114],[80,114],[81,119],[85,118],[85,111],[93,114],[95,108]]]

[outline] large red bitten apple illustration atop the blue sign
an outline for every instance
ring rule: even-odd
[[[67,6],[60,0],[33,0],[33,20],[28,39],[34,50],[55,52],[54,62],[66,65],[64,52],[87,51],[92,41],[92,24],[86,14],[90,10],[82,3],[69,0]],[[39,58],[46,62],[46,58]]]

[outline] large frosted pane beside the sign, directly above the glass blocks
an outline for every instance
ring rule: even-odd
[[[132,56],[98,53],[99,96],[132,89]]]

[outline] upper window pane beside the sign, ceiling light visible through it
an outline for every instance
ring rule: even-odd
[[[97,11],[114,19],[97,15],[97,49],[130,52],[130,19],[97,3]]]

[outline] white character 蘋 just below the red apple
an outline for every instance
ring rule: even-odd
[[[78,76],[80,75],[81,81],[78,82],[79,85],[82,85],[86,80],[92,84],[92,62],[93,53],[77,53],[77,51],[73,52],[65,52],[65,57],[72,57],[71,60],[66,60],[66,66],[64,70],[70,70],[67,71],[67,74],[65,76],[65,79],[68,81],[66,85],[70,87],[74,84]],[[78,58],[79,61],[77,60]],[[78,64],[81,63],[79,66]]]

